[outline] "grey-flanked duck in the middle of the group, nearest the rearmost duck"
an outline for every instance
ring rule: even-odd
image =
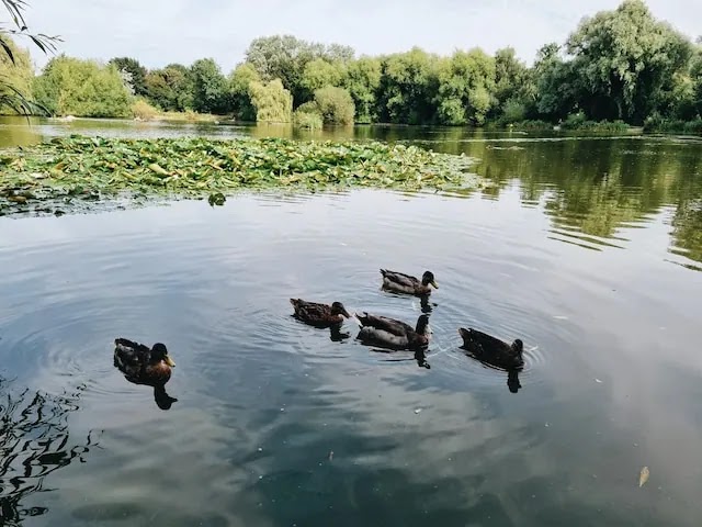
[[[361,322],[356,337],[363,344],[389,349],[419,349],[429,344],[429,316],[420,315],[417,326],[386,316],[355,315]]]

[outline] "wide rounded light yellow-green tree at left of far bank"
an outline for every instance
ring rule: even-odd
[[[52,113],[86,117],[132,115],[132,97],[112,65],[64,55],[53,58],[35,80],[37,101]]]

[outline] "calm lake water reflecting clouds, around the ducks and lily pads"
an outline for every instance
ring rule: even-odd
[[[55,135],[287,128],[4,120]],[[480,159],[465,193],[244,193],[0,218],[0,525],[698,526],[702,143],[366,126]],[[378,268],[433,271],[430,369],[290,298],[414,325]],[[511,341],[507,373],[458,327]],[[160,410],[115,337],[167,344]],[[639,486],[639,472],[650,476]]]

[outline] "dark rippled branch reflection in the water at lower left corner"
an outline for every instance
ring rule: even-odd
[[[0,525],[18,526],[45,514],[46,507],[24,507],[22,501],[45,492],[44,478],[55,470],[86,462],[84,455],[98,445],[90,433],[84,445],[70,446],[68,414],[78,410],[79,395],[12,390],[0,377]]]

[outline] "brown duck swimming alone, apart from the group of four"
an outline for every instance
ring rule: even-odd
[[[171,368],[176,362],[161,343],[156,343],[149,349],[143,344],[116,338],[114,346],[114,366],[124,373],[127,381],[135,384],[163,386],[171,378]]]

